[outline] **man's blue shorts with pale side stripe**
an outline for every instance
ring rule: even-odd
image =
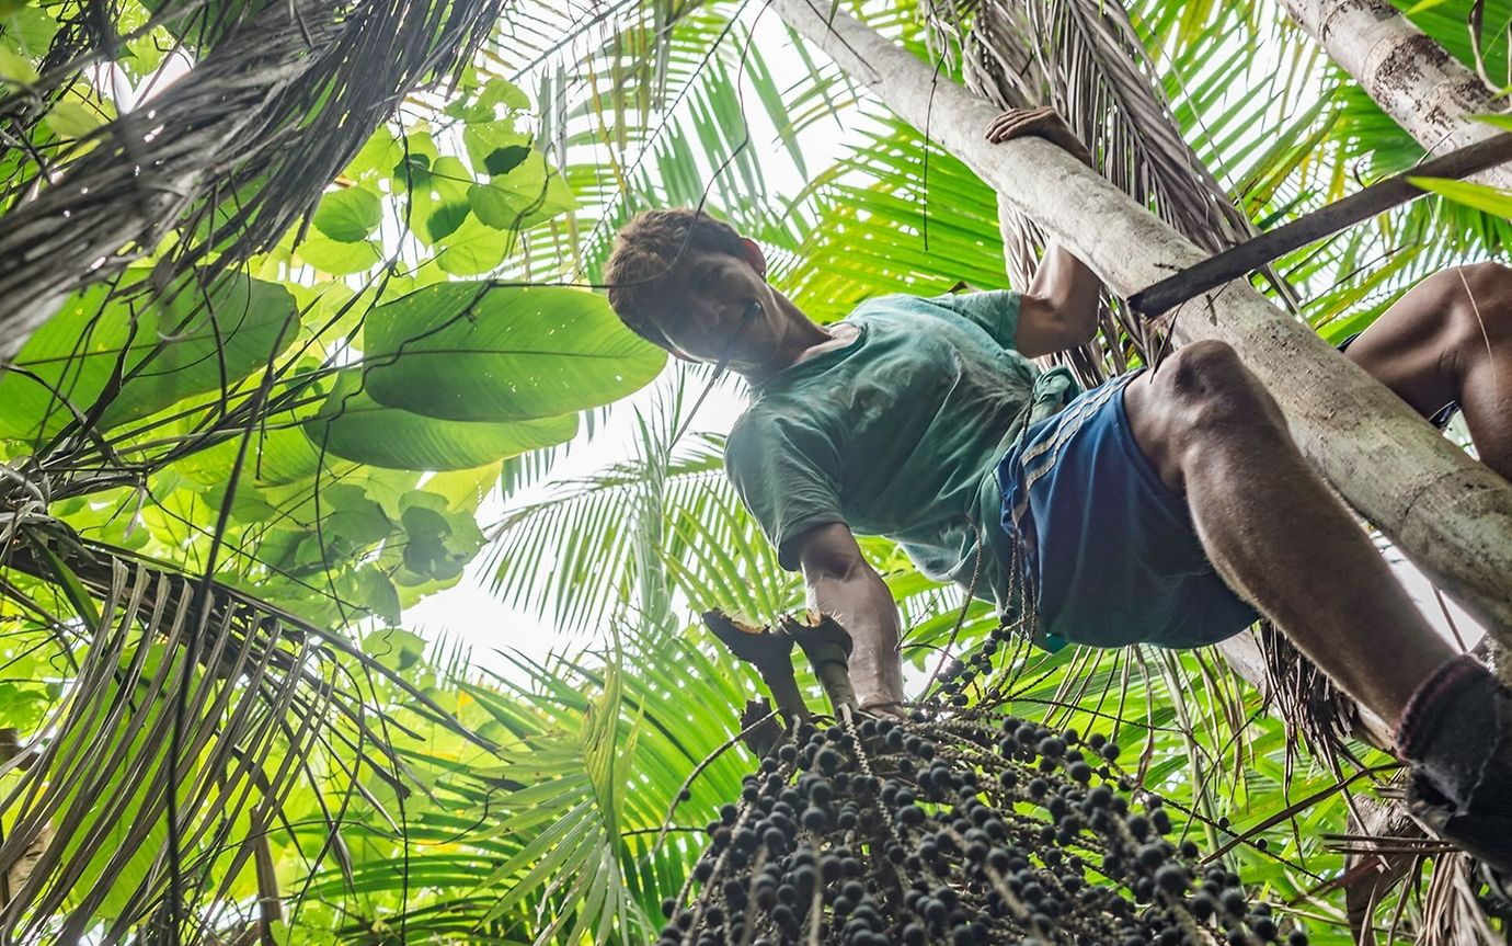
[[[998,465],[1002,525],[1022,543],[1040,642],[1202,646],[1259,619],[1213,571],[1187,499],[1134,443],[1123,387],[1078,395]]]

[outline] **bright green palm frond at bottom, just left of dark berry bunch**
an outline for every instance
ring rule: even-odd
[[[513,672],[461,687],[478,725],[500,733],[499,748],[434,784],[440,804],[407,826],[416,857],[364,858],[351,876],[325,869],[307,892],[307,922],[321,923],[330,905],[363,916],[364,901],[410,890],[384,929],[537,943],[652,937],[650,917],[702,848],[692,826],[738,793],[751,763],[739,748],[717,754],[748,674],[706,640],[635,628],[608,651],[511,660]],[[658,843],[673,807],[677,829]],[[336,938],[372,932],[351,923]]]

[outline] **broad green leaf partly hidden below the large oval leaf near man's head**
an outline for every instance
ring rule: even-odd
[[[305,436],[331,456],[386,469],[470,469],[578,433],[575,413],[510,424],[442,421],[384,407],[357,384],[355,371],[342,375],[321,413],[305,421]]]

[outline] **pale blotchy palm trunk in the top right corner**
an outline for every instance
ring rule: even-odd
[[[1483,141],[1498,129],[1471,115],[1503,112],[1491,89],[1387,0],[1281,0],[1291,18],[1355,77],[1429,154]],[[1512,166],[1471,180],[1512,188]]]

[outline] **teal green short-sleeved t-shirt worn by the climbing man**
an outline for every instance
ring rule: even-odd
[[[1040,374],[1013,350],[1019,294],[974,292],[862,303],[859,330],[751,387],[726,469],[776,545],[844,522],[898,542],[925,575],[1007,601],[1012,545],[1001,524],[998,460],[1024,427],[1077,394],[1064,369]]]

